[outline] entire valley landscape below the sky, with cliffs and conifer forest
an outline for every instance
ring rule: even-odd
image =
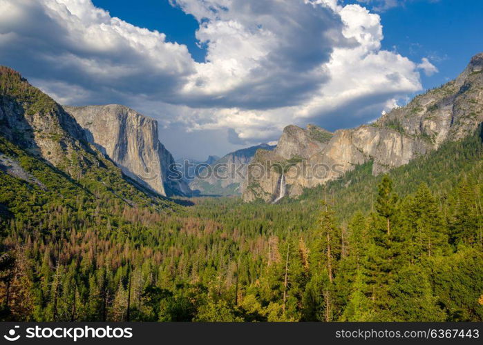
[[[205,162],[247,179],[203,180],[153,119],[0,68],[1,319],[481,322],[482,70],[373,124],[287,126]],[[290,175],[310,164],[339,168]]]

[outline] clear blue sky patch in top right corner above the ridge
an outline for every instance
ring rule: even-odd
[[[354,1],[352,1],[354,2]],[[407,1],[380,13],[383,48],[411,59],[429,57],[439,73],[422,75],[424,88],[454,79],[468,57],[483,51],[483,1]]]

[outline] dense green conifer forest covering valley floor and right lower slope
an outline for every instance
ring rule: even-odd
[[[483,320],[481,128],[276,205],[162,208],[1,152],[2,319]]]

